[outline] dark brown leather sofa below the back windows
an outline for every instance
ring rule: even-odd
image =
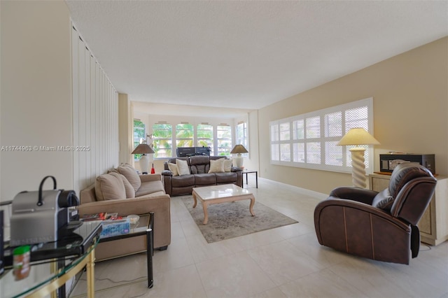
[[[191,157],[170,158],[165,162],[165,170],[162,171],[162,179],[165,185],[165,192],[170,196],[191,194],[193,187],[235,184],[243,187],[243,174],[241,169],[232,166],[228,171],[209,173],[210,161],[218,159],[228,159],[223,156],[195,155]],[[169,170],[168,163],[176,164],[176,159],[188,162],[189,173],[175,175]]]

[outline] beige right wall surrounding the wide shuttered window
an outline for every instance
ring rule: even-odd
[[[358,99],[374,99],[374,170],[388,151],[434,153],[448,174],[448,37],[315,87],[258,113],[260,176],[321,193],[351,185],[351,175],[269,164],[269,121]]]

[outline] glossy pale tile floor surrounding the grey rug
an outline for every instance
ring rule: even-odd
[[[172,197],[172,243],[154,253],[154,287],[146,288],[144,254],[121,257],[95,265],[95,297],[448,298],[448,241],[423,244],[409,265],[346,255],[317,242],[320,199],[264,179],[258,187],[251,188],[258,202],[299,222],[209,244]],[[85,297],[83,279],[71,297]]]

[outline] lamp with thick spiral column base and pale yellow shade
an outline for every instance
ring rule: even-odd
[[[364,164],[364,151],[365,148],[359,147],[359,145],[379,145],[379,141],[375,139],[371,134],[365,131],[361,127],[352,128],[342,137],[337,143],[339,146],[355,145],[356,147],[350,148],[351,152],[351,179],[353,186],[365,188],[365,164]]]

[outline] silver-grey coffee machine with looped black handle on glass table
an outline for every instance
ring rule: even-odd
[[[53,190],[42,190],[47,178],[53,180]],[[46,243],[58,240],[69,225],[69,207],[78,206],[73,190],[57,190],[56,179],[43,178],[38,191],[20,192],[12,203],[10,246]]]

